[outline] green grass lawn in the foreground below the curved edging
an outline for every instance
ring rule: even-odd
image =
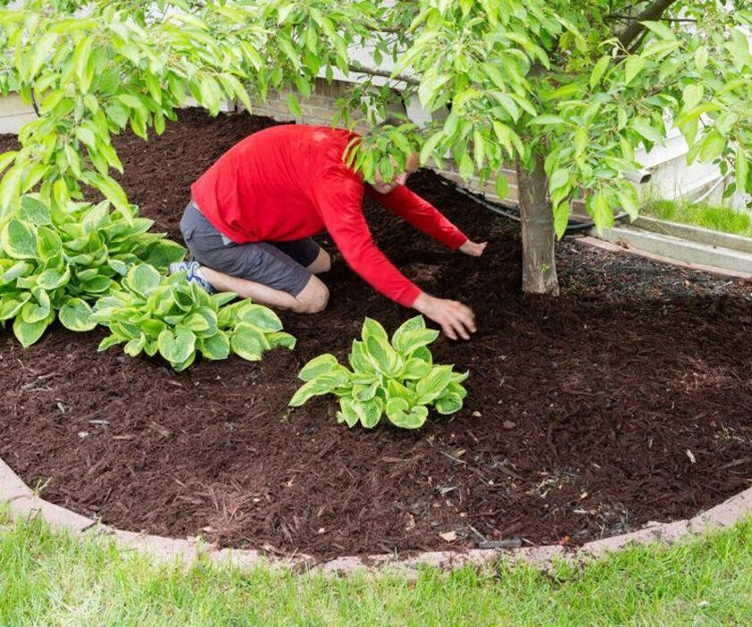
[[[324,579],[157,566],[0,512],[0,625],[752,624],[752,519],[671,548],[529,567]]]

